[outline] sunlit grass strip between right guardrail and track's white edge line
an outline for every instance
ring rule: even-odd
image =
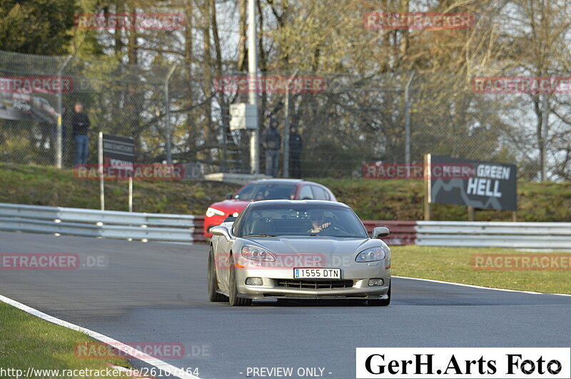
[[[435,279],[510,290],[571,293],[570,271],[482,271],[472,266],[474,254],[521,254],[505,248],[393,246],[395,276]]]

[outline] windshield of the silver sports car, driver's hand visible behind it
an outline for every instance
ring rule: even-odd
[[[330,236],[367,238],[363,223],[350,208],[322,205],[256,206],[238,226],[238,236]]]

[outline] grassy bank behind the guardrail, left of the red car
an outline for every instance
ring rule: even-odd
[[[77,180],[71,169],[0,163],[0,202],[100,208],[99,182]],[[133,181],[133,211],[204,214],[238,186],[212,181]],[[128,210],[127,181],[105,183],[105,208]]]

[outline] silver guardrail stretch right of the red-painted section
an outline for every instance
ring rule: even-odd
[[[418,221],[419,246],[571,249],[571,223]]]

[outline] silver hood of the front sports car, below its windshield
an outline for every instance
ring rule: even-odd
[[[278,236],[278,237],[251,237],[244,240],[253,241],[257,245],[268,249],[272,253],[319,253],[319,254],[347,254],[370,246],[378,246],[380,240],[369,238],[342,238],[326,236]]]

